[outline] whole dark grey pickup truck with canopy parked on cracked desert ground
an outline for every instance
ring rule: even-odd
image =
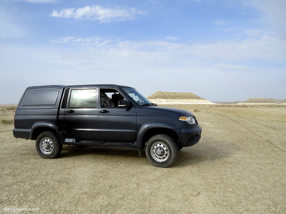
[[[159,107],[120,85],[28,87],[14,117],[15,138],[36,140],[42,158],[64,145],[145,148],[148,160],[169,167],[178,150],[196,144],[202,128],[186,110]]]

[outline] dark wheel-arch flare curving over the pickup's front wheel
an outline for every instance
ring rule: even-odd
[[[151,128],[168,128],[168,129],[174,130],[177,134],[178,134],[178,132],[176,130],[180,130],[180,127],[178,125],[176,125],[174,123],[170,123],[170,122],[148,122],[148,123],[145,123],[139,129],[139,132],[137,135],[137,139],[136,139],[136,147],[137,148],[142,148],[143,136],[146,133],[146,131],[151,129]],[[180,137],[180,135],[179,135],[179,137]]]

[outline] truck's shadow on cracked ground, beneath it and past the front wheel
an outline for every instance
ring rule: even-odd
[[[210,139],[201,140],[194,146],[182,148],[182,150],[179,151],[178,159],[172,165],[172,167],[182,167],[197,164],[203,161],[222,159],[232,156],[237,152],[239,152],[239,148],[235,146],[233,142],[220,142]],[[66,145],[64,145],[63,151],[58,158],[70,158],[84,155],[109,156],[110,158],[126,157],[135,159],[135,161],[138,160],[139,162],[142,161],[142,158],[146,158],[145,150],[143,151],[142,156],[139,158],[138,149],[134,148]],[[148,164],[148,161],[144,161],[142,164]]]

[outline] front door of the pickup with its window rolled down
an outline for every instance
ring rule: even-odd
[[[100,88],[98,108],[99,138],[103,141],[136,141],[136,107],[119,108],[118,101],[127,99],[114,88]]]

